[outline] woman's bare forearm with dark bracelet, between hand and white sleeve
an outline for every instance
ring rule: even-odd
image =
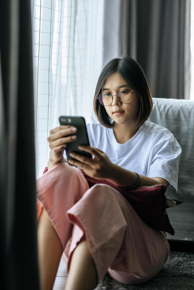
[[[118,166],[117,164],[113,164],[112,165],[112,175],[107,178],[111,181],[113,181],[114,183],[116,183],[118,186],[121,187],[132,187],[135,184],[137,184],[138,182],[138,177],[136,175],[136,173],[129,171],[127,169],[124,169],[120,166]],[[155,184],[162,184],[164,183],[166,185],[166,187],[168,186],[168,181],[166,181],[163,178],[159,178],[159,177],[147,177],[144,175],[139,175],[140,176],[140,186],[152,186]]]

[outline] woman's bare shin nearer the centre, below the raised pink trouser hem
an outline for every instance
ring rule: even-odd
[[[96,266],[82,239],[72,254],[65,290],[93,290],[97,285]]]

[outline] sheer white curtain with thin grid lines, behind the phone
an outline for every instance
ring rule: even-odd
[[[103,0],[32,0],[36,177],[60,115],[91,122],[103,56]],[[65,156],[65,154],[64,154]]]

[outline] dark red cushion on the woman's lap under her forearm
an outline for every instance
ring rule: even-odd
[[[112,186],[127,199],[139,217],[147,225],[155,230],[166,231],[174,236],[174,229],[166,211],[165,184],[141,186],[133,190],[123,189],[110,180],[92,178],[81,168],[78,169],[82,171],[85,179],[88,181],[89,187],[92,187],[96,183],[104,183]],[[43,174],[47,170],[48,167],[45,167]]]

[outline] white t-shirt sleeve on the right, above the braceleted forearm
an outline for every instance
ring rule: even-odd
[[[180,146],[169,145],[167,143],[167,141],[164,141],[152,148],[152,159],[148,177],[160,177],[167,180],[169,183],[167,190],[171,194],[175,190],[177,193],[179,160],[182,150]]]

